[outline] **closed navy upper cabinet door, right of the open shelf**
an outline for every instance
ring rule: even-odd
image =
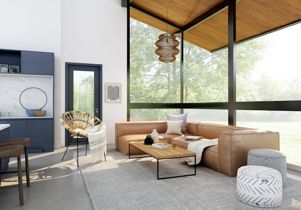
[[[21,52],[21,73],[53,75],[54,53],[52,52]]]

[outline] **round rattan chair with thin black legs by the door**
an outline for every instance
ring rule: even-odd
[[[86,138],[84,141],[86,142],[85,155],[87,155],[88,134],[82,133],[82,131],[76,131],[76,129],[84,130],[91,126],[100,125],[102,124],[102,121],[96,116],[82,111],[67,111],[61,115],[60,121],[61,124],[71,133],[71,139],[68,142],[68,146],[62,160],[66,155],[70,143],[72,143],[72,139],[74,137],[77,137],[76,143],[77,143],[77,166],[78,166],[78,143],[82,142],[82,141],[78,141],[78,138]]]

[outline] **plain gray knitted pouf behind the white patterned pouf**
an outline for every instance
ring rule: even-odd
[[[282,184],[285,186],[287,178],[287,158],[277,150],[253,149],[248,152],[248,165],[261,165],[278,170],[282,175]]]

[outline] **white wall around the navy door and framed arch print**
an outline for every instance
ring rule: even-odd
[[[65,62],[102,64],[106,82],[122,84],[122,102],[105,103],[107,143],[126,121],[127,9],[121,0],[0,0],[0,49],[55,53],[55,148],[65,146]],[[104,90],[104,88],[103,88]]]

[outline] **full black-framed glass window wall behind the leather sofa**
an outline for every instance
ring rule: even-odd
[[[272,107],[273,102],[301,100],[301,23],[236,45],[236,101],[230,103],[228,49],[208,52],[184,41],[181,93],[179,56],[166,64],[154,53],[162,33],[131,19],[131,121],[165,120],[166,113],[187,112],[188,120],[226,125],[227,107],[250,107],[237,108],[234,124],[278,131],[288,162],[301,165],[301,111]],[[262,108],[254,102],[272,103]]]

